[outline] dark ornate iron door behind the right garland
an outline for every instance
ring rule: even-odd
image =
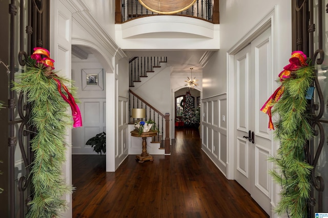
[[[328,133],[328,95],[326,87],[328,63],[325,60],[325,53],[328,51],[328,30],[325,30],[328,18],[328,1],[322,0],[293,0],[293,51],[303,51],[308,57],[312,58],[312,65],[315,66],[315,87],[314,98],[309,101],[309,112],[312,114],[309,120],[315,131],[315,138],[308,142],[305,152],[308,162],[313,166],[311,175],[312,191],[309,206],[309,214],[323,212],[323,208],[328,205],[324,202],[323,196],[327,195],[324,190],[324,181],[327,180],[327,161],[328,148],[325,142],[325,135]],[[323,44],[323,39],[326,39]],[[323,90],[322,90],[322,88]],[[323,93],[324,92],[324,93]],[[325,147],[324,147],[325,145]],[[325,167],[325,169],[324,169]],[[325,191],[325,192],[324,192]],[[327,201],[327,200],[325,200]]]

